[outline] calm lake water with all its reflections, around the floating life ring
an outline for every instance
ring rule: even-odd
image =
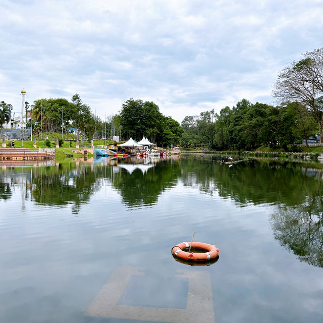
[[[318,164],[215,156],[0,168],[0,322],[322,322]],[[177,262],[215,244],[209,266]]]

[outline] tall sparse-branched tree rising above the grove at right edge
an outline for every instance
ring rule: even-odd
[[[278,74],[274,97],[281,102],[302,103],[315,118],[323,143],[323,47],[303,54],[303,59],[293,62]]]

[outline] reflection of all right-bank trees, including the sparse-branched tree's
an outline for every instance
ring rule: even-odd
[[[211,160],[202,163],[203,167],[193,158],[181,161],[186,185],[208,193],[218,191],[241,205],[279,205],[272,216],[276,239],[301,260],[323,267],[321,170],[308,172],[295,163],[270,160],[246,161],[231,168]]]

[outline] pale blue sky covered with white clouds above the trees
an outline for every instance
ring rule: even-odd
[[[323,46],[321,0],[1,0],[0,100],[79,93],[104,119],[128,98],[181,122],[273,103],[277,73]]]

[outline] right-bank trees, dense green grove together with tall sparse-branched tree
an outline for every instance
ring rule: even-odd
[[[185,147],[252,150],[259,146],[300,143],[319,132],[323,143],[323,48],[303,54],[284,68],[274,84],[278,105],[237,102],[219,114],[214,110],[187,116],[182,122]]]

